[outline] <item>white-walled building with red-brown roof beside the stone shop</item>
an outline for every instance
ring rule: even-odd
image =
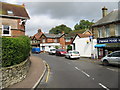
[[[91,39],[92,34],[76,34],[73,39],[73,50],[79,51],[81,57],[96,57],[95,39]]]

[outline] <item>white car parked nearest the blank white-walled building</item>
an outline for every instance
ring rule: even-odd
[[[67,54],[65,54],[65,58],[69,58],[69,59],[79,59],[80,58],[80,53],[78,51],[68,51]]]

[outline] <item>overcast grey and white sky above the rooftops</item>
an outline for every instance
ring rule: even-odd
[[[38,29],[48,33],[55,26],[65,24],[74,30],[74,25],[85,19],[96,22],[102,18],[102,8],[108,8],[108,13],[118,9],[118,2],[106,0],[106,2],[96,2],[98,0],[0,0],[12,4],[25,4],[25,8],[30,16],[26,23],[26,35],[33,36]],[[29,2],[28,2],[29,1]],[[88,2],[89,1],[89,2]],[[104,0],[105,1],[105,0]]]

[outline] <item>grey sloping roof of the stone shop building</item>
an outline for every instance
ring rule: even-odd
[[[120,20],[119,15],[120,15],[120,10],[114,10],[114,11],[110,12],[108,15],[106,15],[105,17],[101,18],[99,21],[97,21],[93,25],[93,27],[119,21]]]

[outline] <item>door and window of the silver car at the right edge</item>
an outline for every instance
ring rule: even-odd
[[[120,63],[120,52],[112,53],[111,57],[109,58],[109,62],[114,64]]]

